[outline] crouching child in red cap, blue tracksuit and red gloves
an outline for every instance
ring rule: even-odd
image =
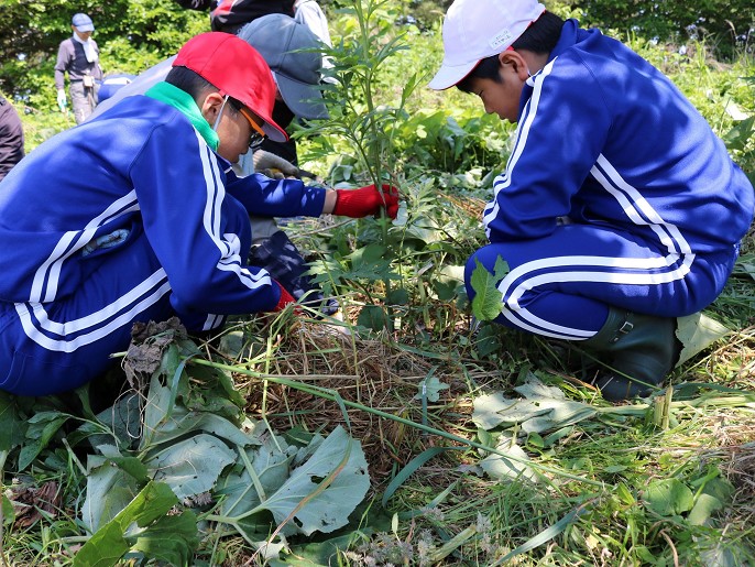
[[[292,297],[247,265],[250,210],[363,217],[397,196],[237,177],[265,137],[275,83],[247,42],[189,40],[165,81],[41,144],[0,183],[0,390],[44,395],[100,375],[136,321],[190,331]]]

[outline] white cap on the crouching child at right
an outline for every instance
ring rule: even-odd
[[[537,0],[455,0],[444,20],[444,62],[429,87],[452,87],[481,59],[511,46],[543,12]]]

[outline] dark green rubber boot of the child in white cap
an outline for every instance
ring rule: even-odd
[[[597,335],[581,342],[609,368],[593,380],[605,400],[647,396],[663,384],[679,357],[677,320],[611,307]]]

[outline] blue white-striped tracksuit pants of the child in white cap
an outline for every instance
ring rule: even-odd
[[[669,254],[656,243],[613,227],[563,225],[546,238],[491,243],[468,261],[494,272],[497,258],[507,275],[497,282],[503,313],[496,323],[566,340],[592,337],[611,306],[658,317],[697,313],[723,290],[738,246],[714,254]]]

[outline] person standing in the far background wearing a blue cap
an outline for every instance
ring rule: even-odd
[[[65,74],[68,74],[70,100],[76,123],[84,122],[97,106],[102,69],[99,47],[91,39],[95,24],[87,14],[77,13],[70,22],[74,35],[61,42],[55,63],[55,88],[57,105],[65,111],[68,105],[65,91]]]

